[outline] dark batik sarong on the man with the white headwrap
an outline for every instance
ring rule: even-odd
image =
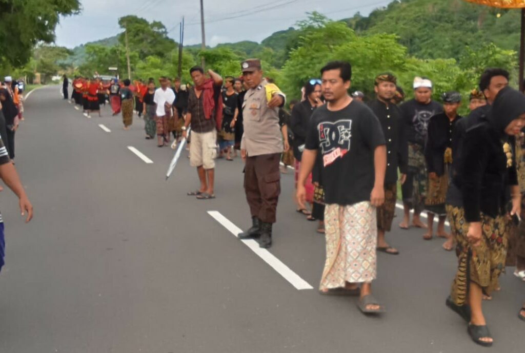
[[[408,144],[408,173],[402,186],[403,202],[416,213],[425,207],[427,190],[427,171],[423,147],[417,144]]]

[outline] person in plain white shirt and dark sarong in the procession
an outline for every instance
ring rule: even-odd
[[[163,147],[170,141],[170,118],[172,105],[175,101],[175,92],[169,87],[166,77],[160,78],[161,87],[155,91],[153,101],[156,104],[155,121],[157,124],[157,146]]]

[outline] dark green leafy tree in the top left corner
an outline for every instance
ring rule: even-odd
[[[27,63],[37,42],[55,40],[60,16],[79,10],[79,0],[1,0],[0,68]]]

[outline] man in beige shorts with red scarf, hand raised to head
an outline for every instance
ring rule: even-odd
[[[206,78],[200,66],[190,69],[194,87],[188,92],[188,112],[186,113],[182,136],[187,137],[187,127],[192,127],[190,146],[190,165],[197,168],[201,186],[187,193],[199,200],[214,199],[215,158],[217,156],[217,130],[223,117],[223,104],[220,90],[223,78],[208,70]]]

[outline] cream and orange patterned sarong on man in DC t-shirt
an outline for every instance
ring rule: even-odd
[[[371,282],[376,277],[376,209],[369,201],[351,206],[326,205],[326,262],[320,290],[346,282]]]

